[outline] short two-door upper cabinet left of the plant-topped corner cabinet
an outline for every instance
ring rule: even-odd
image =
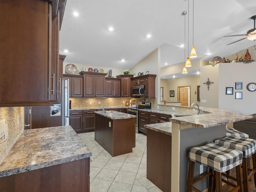
[[[105,78],[105,96],[106,97],[120,97],[120,79]]]

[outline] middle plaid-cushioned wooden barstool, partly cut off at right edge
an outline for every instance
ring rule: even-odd
[[[248,192],[248,182],[254,176],[254,185],[256,187],[256,140],[237,136],[226,136],[218,139],[215,143],[225,147],[230,147],[243,152],[242,173],[244,192]],[[252,156],[253,168],[248,167],[246,158]],[[251,172],[248,174],[248,170]]]

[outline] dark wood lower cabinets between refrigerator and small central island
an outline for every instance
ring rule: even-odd
[[[69,124],[76,133],[94,131],[96,110],[74,110],[69,113]]]

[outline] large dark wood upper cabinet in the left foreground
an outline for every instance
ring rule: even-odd
[[[52,30],[59,30],[66,1],[57,0],[56,17],[52,17],[56,1],[50,2],[0,1],[0,16],[8,18],[1,20],[4,30],[0,30],[0,106],[52,105],[58,101],[58,34],[53,38]],[[62,12],[58,14],[59,8]]]

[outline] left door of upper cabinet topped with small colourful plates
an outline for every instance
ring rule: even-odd
[[[84,75],[84,97],[95,96],[95,76]]]

